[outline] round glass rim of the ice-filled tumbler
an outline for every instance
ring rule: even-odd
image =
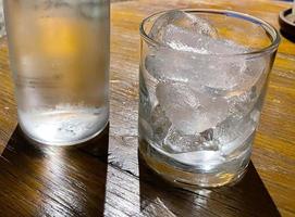
[[[197,55],[211,55],[211,56],[243,56],[243,55],[261,55],[263,53],[268,53],[268,52],[273,52],[278,49],[280,41],[281,41],[281,37],[279,31],[276,30],[276,28],[271,25],[270,23],[255,17],[253,15],[246,14],[246,13],[241,13],[241,12],[236,12],[236,11],[230,11],[230,10],[220,10],[220,9],[173,9],[173,10],[164,10],[164,11],[160,11],[157,13],[153,13],[149,16],[147,16],[146,18],[144,18],[139,25],[139,33],[142,38],[155,46],[155,47],[160,47],[161,44],[156,41],[155,39],[152,39],[145,30],[145,24],[147,22],[149,22],[151,18],[160,15],[160,14],[164,14],[171,11],[175,11],[175,10],[180,10],[180,11],[184,11],[187,13],[193,13],[193,12],[197,12],[197,13],[211,13],[211,14],[221,14],[221,15],[230,15],[232,17],[237,17],[237,18],[244,18],[247,22],[251,22],[255,24],[258,24],[260,27],[262,27],[271,37],[271,44],[263,47],[261,49],[255,50],[255,51],[249,51],[249,52],[244,52],[244,53],[196,53]]]

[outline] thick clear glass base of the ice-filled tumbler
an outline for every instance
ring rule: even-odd
[[[222,186],[235,184],[239,181],[247,170],[249,163],[249,153],[243,157],[244,159],[239,162],[238,165],[220,165],[216,169],[199,169],[193,167],[183,167],[176,165],[173,159],[167,157],[160,157],[161,154],[152,148],[152,145],[147,142],[140,141],[139,153],[142,158],[145,161],[148,167],[155,170],[163,179],[172,182],[172,184],[188,189],[190,191],[197,190],[199,188],[214,188]],[[233,162],[232,162],[233,164]]]

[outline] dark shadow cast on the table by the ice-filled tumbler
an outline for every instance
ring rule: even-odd
[[[175,189],[139,158],[140,212],[151,216],[280,216],[253,163],[233,187]]]

